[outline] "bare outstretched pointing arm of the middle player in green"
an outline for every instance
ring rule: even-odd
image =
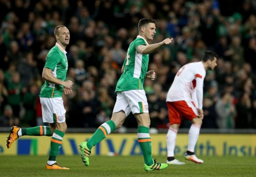
[[[140,45],[137,47],[137,51],[141,54],[149,54],[154,52],[154,50],[156,50],[157,48],[163,46],[163,45],[168,45],[171,44],[171,42],[173,41],[173,38],[166,38],[165,40],[163,40],[162,42],[158,42],[156,44],[150,44],[147,46],[144,45]]]

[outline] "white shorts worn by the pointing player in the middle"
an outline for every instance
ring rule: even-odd
[[[132,112],[145,113],[148,112],[148,101],[145,90],[128,90],[117,92],[117,101],[113,112],[119,112],[123,110],[126,117]]]

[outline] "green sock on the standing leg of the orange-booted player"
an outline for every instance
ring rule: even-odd
[[[64,135],[65,135],[64,132],[59,130],[54,130],[54,133],[51,139],[51,149],[50,149],[50,156],[48,160],[56,161],[56,157],[59,153],[59,149],[61,147],[62,139]]]

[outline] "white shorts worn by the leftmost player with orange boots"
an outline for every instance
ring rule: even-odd
[[[66,121],[62,98],[41,98],[43,122],[63,123]]]

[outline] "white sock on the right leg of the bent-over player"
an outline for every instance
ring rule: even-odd
[[[195,152],[195,146],[200,132],[200,125],[192,124],[188,132],[188,146],[187,150]]]

